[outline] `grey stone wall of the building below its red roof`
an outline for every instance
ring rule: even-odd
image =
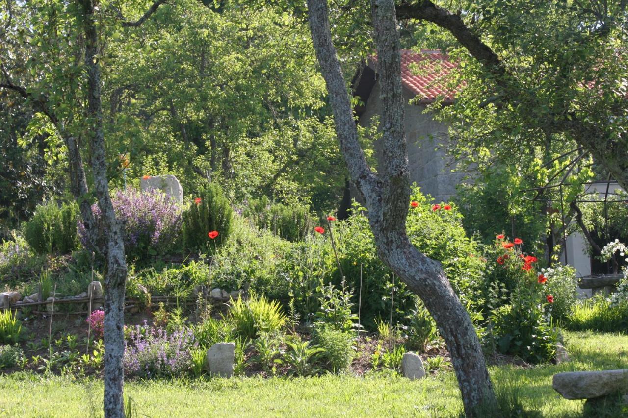
[[[404,90],[404,99],[413,95]],[[375,115],[381,115],[382,102],[379,99],[379,84],[373,87],[366,105],[360,126],[368,126]],[[435,121],[425,114],[425,105],[406,105],[406,139],[408,140],[408,161],[410,181],[416,181],[423,193],[436,201],[447,201],[456,193],[456,186],[463,181],[465,174],[452,173],[453,164],[445,152],[443,144],[449,140],[447,125]],[[381,156],[381,144],[375,144],[376,156]]]

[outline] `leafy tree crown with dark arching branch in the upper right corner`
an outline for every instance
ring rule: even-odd
[[[573,163],[590,155],[628,187],[628,67],[620,46],[628,39],[628,2],[448,5],[458,11],[429,0],[403,0],[397,16],[436,25],[450,45],[462,47],[457,56],[470,88],[450,111],[467,129],[477,129],[472,143],[493,150],[573,141]],[[499,122],[482,129],[485,117]]]

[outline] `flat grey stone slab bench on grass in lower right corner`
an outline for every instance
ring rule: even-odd
[[[616,392],[628,394],[628,369],[558,373],[552,387],[565,399],[593,399]]]

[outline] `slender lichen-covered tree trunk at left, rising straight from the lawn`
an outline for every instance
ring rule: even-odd
[[[100,66],[98,36],[94,21],[92,0],[79,0],[82,7],[85,32],[85,67],[87,68],[87,116],[90,131],[90,151],[94,189],[98,198],[101,222],[106,245],[107,271],[105,274],[105,417],[124,417],[124,286],[126,284],[126,260],[122,242],[121,222],[116,219],[114,206],[109,196],[107,161],[102,129],[102,103],[100,99]]]

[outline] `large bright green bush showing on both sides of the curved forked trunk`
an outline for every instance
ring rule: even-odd
[[[485,262],[475,240],[468,238],[462,228],[462,215],[455,206],[433,205],[428,196],[423,196],[413,186],[411,200],[416,206],[410,208],[406,220],[408,237],[418,250],[431,259],[443,264],[445,274],[463,302],[477,303],[482,283]],[[362,266],[362,323],[373,328],[374,318],[388,318],[393,310],[393,323],[403,322],[404,316],[413,307],[413,294],[396,279],[382,264],[377,255],[368,218],[364,208],[355,204],[349,220],[335,227],[338,252],[342,271],[354,289],[360,287]],[[393,292],[394,287],[394,306]]]

